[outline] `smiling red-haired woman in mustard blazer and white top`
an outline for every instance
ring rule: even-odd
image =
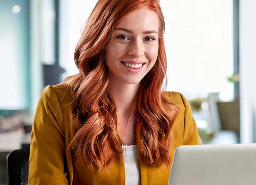
[[[200,144],[186,99],[162,92],[158,0],[99,0],[75,50],[77,75],[42,92],[31,185],[165,185],[174,150]]]

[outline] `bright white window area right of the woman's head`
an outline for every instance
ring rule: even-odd
[[[166,22],[167,90],[234,98],[233,0],[160,0]],[[188,93],[187,93],[188,92]],[[189,97],[188,97],[189,98]]]

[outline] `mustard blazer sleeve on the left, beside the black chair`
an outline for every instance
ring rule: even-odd
[[[46,86],[32,126],[29,185],[67,184],[63,113],[55,89]]]

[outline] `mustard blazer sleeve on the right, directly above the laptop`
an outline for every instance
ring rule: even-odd
[[[191,106],[186,98],[181,94],[183,104],[185,106],[184,113],[184,132],[183,132],[183,145],[198,145],[202,144],[195,120],[192,117]]]

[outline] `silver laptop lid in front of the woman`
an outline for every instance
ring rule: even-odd
[[[256,144],[177,147],[169,185],[256,185]]]

